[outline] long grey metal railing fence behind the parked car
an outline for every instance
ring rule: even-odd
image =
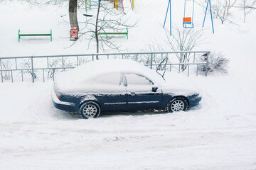
[[[198,75],[198,67],[206,68],[208,74],[208,51],[182,51],[182,52],[132,52],[132,53],[106,53],[90,55],[52,55],[31,57],[0,57],[1,82],[14,81],[46,81],[53,79],[57,72],[73,69],[85,62],[102,59],[130,59],[141,62],[151,69],[168,59],[164,68],[173,72],[190,74],[191,70]],[[204,60],[202,62],[202,56]],[[184,58],[187,60],[184,62]]]

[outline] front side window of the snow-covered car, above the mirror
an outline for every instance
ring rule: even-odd
[[[149,79],[146,79],[146,77],[143,77],[139,74],[126,73],[125,77],[127,79],[128,85],[153,85],[153,83]]]

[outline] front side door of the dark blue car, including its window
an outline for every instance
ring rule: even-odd
[[[129,110],[160,108],[162,92],[156,84],[139,74],[125,73],[124,77]]]

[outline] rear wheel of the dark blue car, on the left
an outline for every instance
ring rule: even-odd
[[[100,115],[100,105],[94,101],[86,101],[79,108],[82,118],[97,118]]]

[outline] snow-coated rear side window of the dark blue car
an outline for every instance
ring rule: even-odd
[[[100,76],[95,77],[92,79],[92,83],[96,84],[115,84],[121,85],[122,84],[122,74],[121,73],[107,73],[102,74]]]

